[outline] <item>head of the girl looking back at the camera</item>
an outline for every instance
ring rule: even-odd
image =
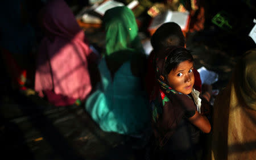
[[[183,47],[170,47],[164,50],[164,55],[163,73],[169,86],[183,94],[190,94],[195,82],[191,51]]]

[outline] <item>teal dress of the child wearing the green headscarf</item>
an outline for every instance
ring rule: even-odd
[[[147,94],[130,66],[130,61],[125,62],[113,79],[105,58],[98,66],[101,82],[86,100],[85,109],[105,132],[140,135],[150,127]]]

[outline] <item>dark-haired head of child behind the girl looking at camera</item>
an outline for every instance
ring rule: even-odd
[[[162,24],[152,35],[151,45],[154,50],[158,51],[162,48],[167,48],[170,45],[185,46],[185,37],[180,26],[174,22]]]

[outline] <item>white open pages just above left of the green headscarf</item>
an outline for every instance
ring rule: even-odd
[[[98,14],[104,15],[107,10],[112,9],[113,7],[118,7],[118,6],[125,6],[125,5],[123,5],[123,3],[121,2],[109,0],[102,3],[94,11],[96,11]]]

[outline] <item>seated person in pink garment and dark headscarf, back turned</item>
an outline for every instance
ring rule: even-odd
[[[41,18],[46,37],[39,47],[35,90],[84,100],[92,90],[88,57],[94,54],[84,42],[84,32],[63,0],[49,2]]]

